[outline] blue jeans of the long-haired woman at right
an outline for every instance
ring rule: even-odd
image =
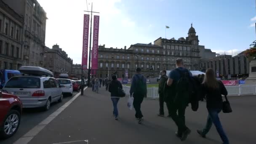
[[[208,117],[207,117],[207,123],[205,125],[205,128],[203,129],[203,134],[207,134],[211,126],[214,124],[216,127],[216,130],[219,133],[219,136],[221,136],[221,140],[224,144],[229,144],[229,139],[227,138],[226,133],[224,132],[221,122],[219,120],[219,112],[221,112],[221,109],[208,109]]]

